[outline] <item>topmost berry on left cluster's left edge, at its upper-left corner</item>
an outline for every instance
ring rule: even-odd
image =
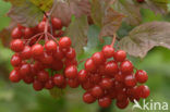
[[[19,27],[15,27],[12,30],[11,36],[12,36],[13,39],[20,39],[20,38],[22,38],[22,30],[20,30]]]

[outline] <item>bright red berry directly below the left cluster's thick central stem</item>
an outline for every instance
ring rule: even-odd
[[[47,52],[52,52],[57,50],[57,43],[53,40],[48,40],[45,43],[45,48],[47,50]]]

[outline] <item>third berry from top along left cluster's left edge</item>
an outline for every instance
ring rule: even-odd
[[[12,55],[12,58],[11,58],[11,64],[12,64],[13,66],[19,66],[19,65],[21,65],[21,64],[22,64],[22,59],[21,59],[21,57],[20,57],[19,54]]]

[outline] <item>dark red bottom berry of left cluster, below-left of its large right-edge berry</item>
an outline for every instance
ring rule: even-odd
[[[62,86],[65,83],[65,79],[64,79],[63,75],[56,74],[53,76],[53,83],[57,86]]]

